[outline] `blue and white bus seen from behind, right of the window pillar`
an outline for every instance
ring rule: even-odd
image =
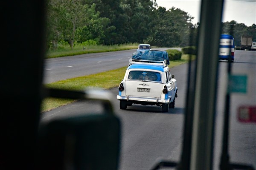
[[[219,60],[229,60],[234,62],[235,39],[232,35],[221,34],[219,44]]]

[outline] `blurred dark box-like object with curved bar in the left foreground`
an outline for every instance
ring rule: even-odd
[[[39,127],[38,170],[117,170],[120,121],[113,113],[111,93],[100,89],[66,91],[45,88],[48,97],[97,100],[102,114],[79,114],[52,119]]]

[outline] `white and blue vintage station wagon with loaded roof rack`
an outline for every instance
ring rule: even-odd
[[[120,109],[133,104],[157,105],[163,112],[175,108],[177,83],[168,67],[166,51],[148,50],[134,55],[119,85]]]

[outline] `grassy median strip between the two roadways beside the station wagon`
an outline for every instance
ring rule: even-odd
[[[177,65],[182,65],[189,60],[189,55],[182,55],[180,60],[170,61],[169,68]],[[103,73],[91,74],[82,77],[76,77],[58,82],[49,83],[46,87],[59,88],[66,90],[83,90],[87,87],[103,88],[108,90],[119,86],[119,83],[123,79],[126,71],[126,66],[111,71],[105,71]],[[41,112],[50,111],[54,108],[61,107],[63,105],[76,102],[73,99],[57,99],[57,98],[46,98],[43,100],[41,105]]]

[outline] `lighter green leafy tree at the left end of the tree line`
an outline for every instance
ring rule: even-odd
[[[109,19],[99,17],[95,4],[89,6],[82,0],[49,0],[47,6],[49,46],[57,48],[59,40],[64,40],[73,49],[76,41],[100,42],[105,37]]]

